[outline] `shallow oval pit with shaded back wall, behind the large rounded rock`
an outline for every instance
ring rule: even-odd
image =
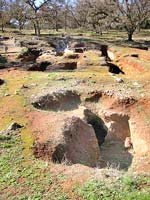
[[[77,109],[80,103],[80,95],[77,92],[61,90],[40,97],[32,105],[41,110],[69,111]]]

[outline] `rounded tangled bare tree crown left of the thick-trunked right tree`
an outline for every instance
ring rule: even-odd
[[[78,23],[102,34],[115,19],[113,0],[77,0],[76,19]]]

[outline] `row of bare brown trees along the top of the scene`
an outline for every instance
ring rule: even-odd
[[[0,0],[0,27],[91,30],[126,30],[132,40],[135,30],[150,28],[150,0]]]

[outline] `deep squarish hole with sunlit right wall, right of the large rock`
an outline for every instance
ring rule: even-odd
[[[108,134],[101,147],[105,165],[128,170],[133,159],[133,144],[128,115],[110,113],[105,116]],[[104,165],[104,166],[105,166]]]

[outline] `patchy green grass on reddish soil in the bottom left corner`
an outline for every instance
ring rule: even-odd
[[[67,200],[46,162],[25,158],[18,133],[0,137],[0,199]],[[64,179],[59,175],[59,179]]]

